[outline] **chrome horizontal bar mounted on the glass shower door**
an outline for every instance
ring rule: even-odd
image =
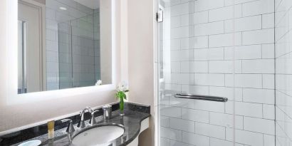
[[[228,98],[222,98],[218,96],[209,96],[209,95],[192,95],[192,94],[183,94],[177,93],[174,95],[175,98],[189,98],[195,100],[209,100],[209,101],[217,101],[217,102],[227,102]]]

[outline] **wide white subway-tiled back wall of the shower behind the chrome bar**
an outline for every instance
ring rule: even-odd
[[[274,1],[163,5],[161,145],[274,146]],[[229,101],[172,96],[180,92]]]

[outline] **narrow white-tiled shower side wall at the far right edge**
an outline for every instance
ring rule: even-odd
[[[292,1],[276,0],[276,146],[292,145]]]

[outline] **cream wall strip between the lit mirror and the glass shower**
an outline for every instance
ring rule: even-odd
[[[125,23],[128,36],[125,62],[128,64],[125,66],[127,71],[123,73],[128,74],[125,78],[129,80],[129,101],[151,105],[150,128],[141,133],[139,145],[154,145],[154,1],[127,0],[124,2],[127,3],[127,12],[124,14],[127,14],[128,18]]]

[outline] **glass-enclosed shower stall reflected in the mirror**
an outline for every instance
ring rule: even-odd
[[[59,89],[100,80],[100,18],[93,14],[58,23]]]

